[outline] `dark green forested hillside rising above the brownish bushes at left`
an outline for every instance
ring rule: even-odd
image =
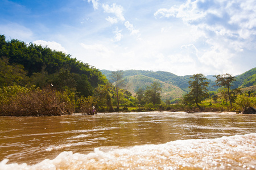
[[[15,84],[38,87],[51,84],[57,90],[68,89],[79,96],[89,96],[98,84],[107,82],[100,70],[69,54],[19,40],[6,41],[4,35],[0,35],[0,59],[0,88]]]

